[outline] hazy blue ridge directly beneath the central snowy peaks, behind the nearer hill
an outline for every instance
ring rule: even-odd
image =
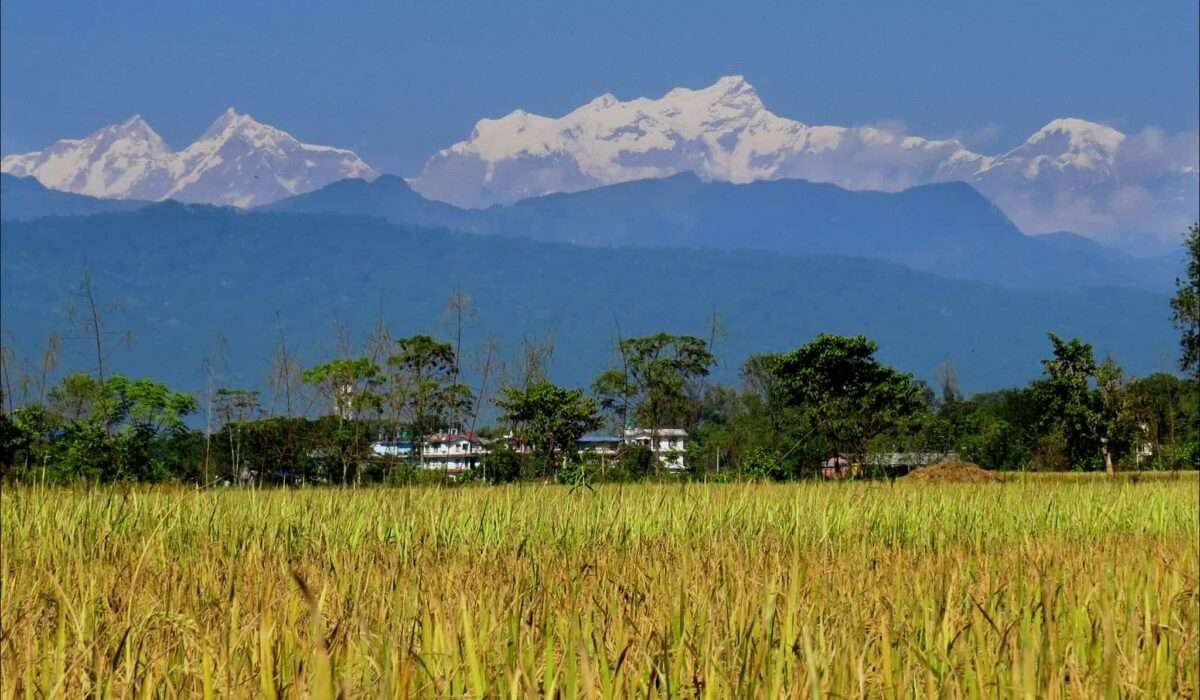
[[[589,246],[757,250],[860,256],[1007,287],[1114,285],[1166,291],[1174,265],[1139,261],[1082,237],[1026,237],[971,186],[851,191],[804,180],[733,185],[692,173],[486,210],[440,208],[396,179],[335,184],[274,205],[383,216],[475,233]]]

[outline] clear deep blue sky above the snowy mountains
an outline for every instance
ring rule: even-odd
[[[0,5],[0,151],[140,113],[175,148],[235,106],[415,174],[475,120],[740,73],[809,124],[994,152],[1056,116],[1196,128],[1194,0]]]

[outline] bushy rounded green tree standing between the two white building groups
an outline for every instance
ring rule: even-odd
[[[575,455],[584,433],[604,424],[595,401],[583,391],[545,381],[526,389],[504,389],[496,406],[504,412],[502,420],[512,426],[517,441],[541,457],[545,477]]]

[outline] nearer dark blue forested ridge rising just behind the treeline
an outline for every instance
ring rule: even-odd
[[[1166,297],[1146,292],[1004,289],[851,257],[576,247],[334,215],[167,203],[6,222],[0,253],[0,322],[20,357],[67,328],[64,303],[86,264],[102,297],[122,301],[109,327],[136,336],[131,349],[113,346],[110,365],[192,389],[218,335],[232,365],[223,381],[262,385],[276,323],[311,364],[336,352],[335,321],[362,340],[380,311],[395,334],[445,336],[457,289],[478,309],[468,366],[487,337],[512,360],[522,337],[552,333],[552,376],[575,385],[610,365],[616,324],[626,336],[706,334],[714,311],[725,381],[749,354],[822,331],[866,334],[924,377],[949,359],[967,390],[1037,376],[1050,330],[1135,373],[1170,369],[1176,345]],[[82,345],[68,351],[64,366],[90,366]]]

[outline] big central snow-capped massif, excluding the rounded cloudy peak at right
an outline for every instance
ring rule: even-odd
[[[858,167],[869,157],[844,157],[864,149],[877,154],[871,168]],[[805,178],[899,190],[934,178],[955,154],[958,169],[982,158],[960,151],[953,140],[785,119],[767,109],[744,77],[725,76],[658,98],[604,94],[559,118],[515,110],[480,120],[467,140],[431,157],[412,185],[467,207],[682,172],[734,183]]]

